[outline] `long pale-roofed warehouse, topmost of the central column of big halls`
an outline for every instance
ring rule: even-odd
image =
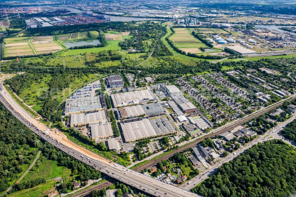
[[[111,94],[111,99],[114,106],[118,107],[154,101],[155,95],[152,93],[151,90],[139,90],[133,92]]]

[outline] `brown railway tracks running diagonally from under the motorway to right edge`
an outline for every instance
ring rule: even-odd
[[[285,100],[285,101],[288,102],[288,101],[292,101],[292,100],[294,100],[294,99],[295,99],[295,98],[292,97],[292,98],[287,99],[287,100]],[[137,171],[137,172],[140,172],[141,170],[143,170],[143,169],[145,169],[145,168],[148,169],[148,168],[150,168],[150,167],[156,165],[158,162],[170,158],[170,157],[173,156],[175,153],[182,152],[182,151],[184,151],[184,150],[187,149],[187,148],[193,148],[193,147],[196,147],[197,144],[200,143],[202,140],[204,140],[204,139],[206,139],[206,138],[212,138],[212,137],[214,137],[215,135],[220,135],[221,133],[224,133],[224,132],[226,132],[226,131],[229,131],[229,130],[231,130],[231,129],[233,129],[233,128],[235,128],[235,127],[237,127],[237,126],[239,126],[239,125],[241,125],[241,124],[243,124],[243,123],[245,123],[245,122],[247,122],[247,121],[249,121],[249,120],[251,120],[251,119],[253,119],[253,118],[255,118],[255,117],[258,117],[258,116],[260,116],[260,115],[262,115],[262,114],[265,114],[266,112],[269,112],[269,111],[271,111],[271,110],[277,108],[278,106],[281,106],[282,104],[283,104],[283,102],[281,102],[281,103],[279,103],[279,104],[276,104],[276,105],[272,106],[271,108],[268,108],[268,109],[266,109],[266,110],[263,110],[262,112],[258,112],[257,114],[254,114],[254,115],[252,115],[252,116],[250,116],[250,117],[247,117],[247,118],[245,118],[245,119],[243,119],[243,120],[240,120],[240,121],[238,121],[238,122],[236,122],[236,123],[234,123],[234,124],[232,124],[232,125],[229,125],[228,127],[225,127],[225,128],[223,128],[223,129],[221,129],[221,130],[215,132],[215,133],[211,133],[211,134],[209,134],[209,135],[207,135],[207,136],[204,136],[204,137],[202,137],[202,138],[200,138],[200,139],[198,139],[198,140],[196,140],[196,141],[193,141],[193,142],[191,142],[191,143],[188,143],[187,145],[185,145],[185,146],[183,146],[183,147],[181,147],[181,148],[179,148],[179,149],[176,149],[176,150],[174,150],[174,151],[172,151],[172,152],[170,152],[170,153],[168,153],[168,154],[165,154],[165,155],[162,156],[162,157],[159,157],[159,158],[157,158],[157,159],[151,160],[151,161],[149,161],[149,162],[147,162],[147,163],[145,163],[145,164],[143,164],[143,165],[141,165],[141,166],[138,166],[138,167],[134,168],[133,170],[135,170],[135,171]]]

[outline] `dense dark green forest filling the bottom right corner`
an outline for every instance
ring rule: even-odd
[[[281,140],[254,145],[191,190],[202,196],[295,196],[296,150]]]

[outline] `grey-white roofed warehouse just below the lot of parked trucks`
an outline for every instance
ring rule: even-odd
[[[67,99],[65,104],[65,115],[84,113],[101,109],[103,108],[99,96]]]

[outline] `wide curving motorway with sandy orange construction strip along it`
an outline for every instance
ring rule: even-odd
[[[88,164],[92,168],[99,170],[100,172],[116,180],[126,183],[127,185],[142,190],[153,196],[198,196],[197,194],[155,180],[119,164],[115,164],[112,161],[103,158],[102,156],[99,156],[79,146],[78,144],[73,143],[72,141],[69,141],[67,136],[65,136],[61,131],[57,129],[49,129],[46,127],[46,125],[42,124],[30,114],[28,114],[28,112],[22,109],[22,107],[20,107],[16,101],[10,97],[9,93],[3,87],[3,83],[0,84],[0,101],[18,120],[20,120],[20,122],[30,128],[44,141],[51,143],[75,159]]]

